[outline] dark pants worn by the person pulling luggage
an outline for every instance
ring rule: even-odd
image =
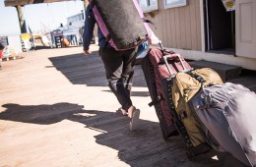
[[[125,110],[128,110],[133,105],[130,94],[136,54],[137,48],[125,51],[116,51],[113,48],[99,48],[99,55],[104,64],[108,86]]]

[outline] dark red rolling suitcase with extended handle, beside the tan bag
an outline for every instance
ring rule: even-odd
[[[160,44],[160,48],[153,47],[149,50],[141,66],[152,98],[149,105],[154,105],[156,109],[163,139],[180,135],[187,145],[189,157],[210,150],[208,144],[203,143],[198,146],[192,144],[172,101],[172,79],[179,72],[186,73],[193,70],[190,65],[180,54],[165,50]]]

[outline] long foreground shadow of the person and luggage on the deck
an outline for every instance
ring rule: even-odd
[[[164,141],[159,123],[141,120],[140,129],[130,132],[128,117],[120,113],[85,110],[84,106],[72,103],[53,105],[4,104],[1,120],[37,125],[50,125],[70,120],[85,125],[85,128],[101,132],[95,136],[96,143],[118,150],[120,160],[130,166],[217,166],[212,159],[214,152],[200,155],[190,161],[185,155],[185,145],[179,137]]]

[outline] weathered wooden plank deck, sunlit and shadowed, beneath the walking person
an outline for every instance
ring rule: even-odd
[[[104,78],[103,65],[82,47],[24,53],[0,70],[0,166],[226,166],[227,155],[212,151],[189,160],[180,137],[165,141],[140,66],[132,99],[141,124],[129,131],[129,118]],[[224,165],[225,164],[225,165]]]

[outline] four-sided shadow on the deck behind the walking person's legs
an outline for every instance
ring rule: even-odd
[[[104,65],[97,55],[66,55],[49,58],[53,66],[73,84],[88,86],[107,86]],[[140,66],[136,66],[133,86],[147,86]]]

